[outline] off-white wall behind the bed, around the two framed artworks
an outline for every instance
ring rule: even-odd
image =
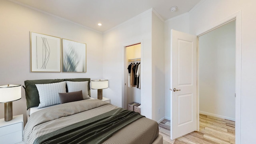
[[[0,85],[24,85],[24,80],[37,79],[102,78],[102,33],[7,0],[0,0],[0,13]],[[30,31],[86,43],[87,72],[30,72]],[[97,91],[91,90],[91,94],[92,97],[97,97]],[[18,114],[24,114],[26,122],[26,99],[23,88],[22,99],[13,102],[13,115]],[[4,118],[2,103],[0,118]]]

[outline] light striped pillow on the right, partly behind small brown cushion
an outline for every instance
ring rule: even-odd
[[[88,81],[84,82],[72,82],[66,81],[68,86],[68,92],[77,92],[82,90],[84,99],[90,98],[88,95]]]

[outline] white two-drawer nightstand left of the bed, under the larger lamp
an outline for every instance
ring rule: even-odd
[[[22,142],[23,114],[13,116],[12,120],[6,122],[0,119],[0,142],[1,144],[16,144]]]

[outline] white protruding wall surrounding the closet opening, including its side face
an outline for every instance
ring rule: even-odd
[[[122,107],[124,70],[127,69],[124,68],[124,47],[142,42],[141,111],[142,115],[156,121],[164,117],[163,27],[163,22],[148,10],[104,34],[103,77],[109,80],[106,97],[111,98],[112,104]],[[158,109],[162,113],[158,114]]]

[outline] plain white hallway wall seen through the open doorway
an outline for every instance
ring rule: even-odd
[[[235,120],[236,22],[199,37],[199,110]]]

